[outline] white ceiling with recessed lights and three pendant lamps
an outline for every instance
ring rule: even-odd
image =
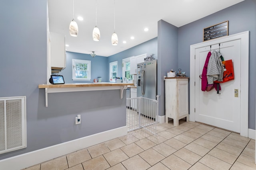
[[[97,0],[100,41],[92,39],[92,30],[96,26],[96,0],[74,0],[74,20],[78,24],[78,37],[69,35],[69,24],[73,19],[73,0],[48,0],[49,26],[51,32],[66,36],[66,44],[69,45],[66,51],[85,54],[95,51],[96,55],[108,57],[157,37],[159,20],[180,27],[242,1],[115,0],[117,46],[111,44],[114,32],[114,0]],[[79,21],[78,16],[82,16],[84,20]],[[145,27],[149,31],[145,32]],[[131,36],[135,39],[130,39]],[[123,41],[127,43],[124,44]]]

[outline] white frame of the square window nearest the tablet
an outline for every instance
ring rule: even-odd
[[[76,77],[76,70],[75,70],[76,63],[87,64],[87,78]],[[90,81],[91,80],[91,61],[90,60],[72,59],[72,80],[73,81]]]

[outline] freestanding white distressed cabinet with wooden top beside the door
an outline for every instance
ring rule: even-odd
[[[179,125],[179,119],[188,121],[188,77],[165,79],[165,119],[173,119],[173,125]]]

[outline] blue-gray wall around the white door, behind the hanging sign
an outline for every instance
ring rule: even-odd
[[[249,128],[255,129],[255,73],[256,73],[256,0],[245,0],[194,21],[178,29],[178,66],[190,72],[190,45],[203,41],[203,28],[229,21],[229,35],[250,31],[249,49]]]

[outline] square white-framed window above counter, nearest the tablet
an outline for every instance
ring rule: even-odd
[[[91,61],[72,59],[72,79],[91,80]]]

